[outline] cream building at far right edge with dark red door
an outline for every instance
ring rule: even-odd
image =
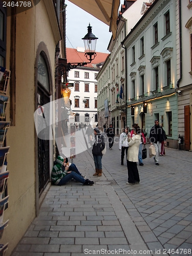
[[[177,1],[177,96],[180,147],[192,150],[192,2]],[[186,57],[187,56],[187,57]]]

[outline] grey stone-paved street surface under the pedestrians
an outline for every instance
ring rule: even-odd
[[[147,157],[135,185],[126,185],[120,153],[107,145],[102,177],[92,176],[91,149],[77,155],[95,184],[51,186],[12,256],[192,255],[192,153],[165,148],[159,166]]]

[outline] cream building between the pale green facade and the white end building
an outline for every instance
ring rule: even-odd
[[[125,0],[118,16],[116,38],[111,38],[108,50],[110,58],[100,70],[98,80],[99,125],[112,123],[116,134],[120,134],[127,122],[127,51],[121,42],[131,31],[142,14],[138,12],[142,0]]]

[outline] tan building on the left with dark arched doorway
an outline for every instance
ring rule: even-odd
[[[1,144],[1,148],[10,147],[6,158],[9,179],[3,195],[9,196],[3,218],[9,222],[1,244],[8,243],[6,255],[10,255],[38,215],[45,187],[50,184],[54,142],[38,139],[34,112],[38,105],[54,100],[55,49],[61,33],[52,0],[38,1],[23,11],[0,4],[1,66],[10,71],[10,97],[1,119],[10,122]]]

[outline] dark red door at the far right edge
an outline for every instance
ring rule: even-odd
[[[190,105],[184,106],[184,148],[190,150]]]

